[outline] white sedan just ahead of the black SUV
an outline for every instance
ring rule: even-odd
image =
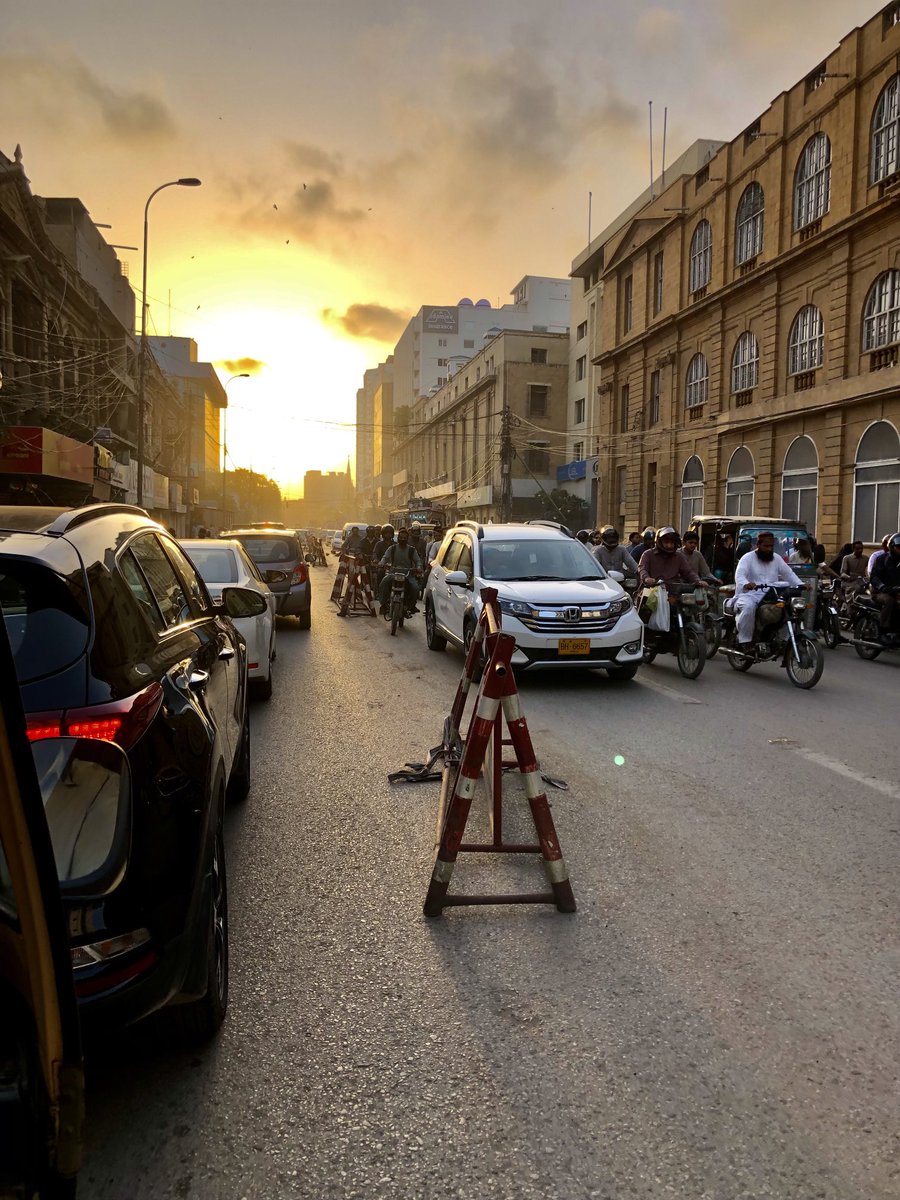
[[[275,660],[275,596],[239,541],[227,538],[187,539],[181,546],[200,572],[215,604],[222,588],[236,584],[252,588],[265,596],[266,607],[258,617],[235,617],[234,624],[247,643],[247,678],[263,700],[272,694],[272,662]]]

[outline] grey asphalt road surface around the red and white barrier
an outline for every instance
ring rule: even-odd
[[[253,709],[226,1025],[95,1051],[79,1195],[896,1200],[900,655],[522,677],[578,912],[428,920],[437,785],[386,774],[462,659],[340,620],[331,575]],[[451,889],[535,883],[469,856]]]

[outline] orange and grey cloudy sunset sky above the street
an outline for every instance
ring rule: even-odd
[[[132,246],[155,187],[203,180],[152,202],[150,329],[252,371],[233,462],[298,494],[353,455],[362,372],[420,305],[566,275],[588,191],[596,233],[647,186],[648,100],[670,161],[734,137],[880,7],[29,0],[4,18],[0,150]]]

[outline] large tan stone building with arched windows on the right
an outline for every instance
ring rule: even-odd
[[[576,262],[600,522],[900,528],[900,2]]]

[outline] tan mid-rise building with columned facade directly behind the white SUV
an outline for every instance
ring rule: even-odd
[[[539,516],[565,445],[568,332],[497,332],[410,412],[395,449],[392,506],[419,497],[479,521]]]

